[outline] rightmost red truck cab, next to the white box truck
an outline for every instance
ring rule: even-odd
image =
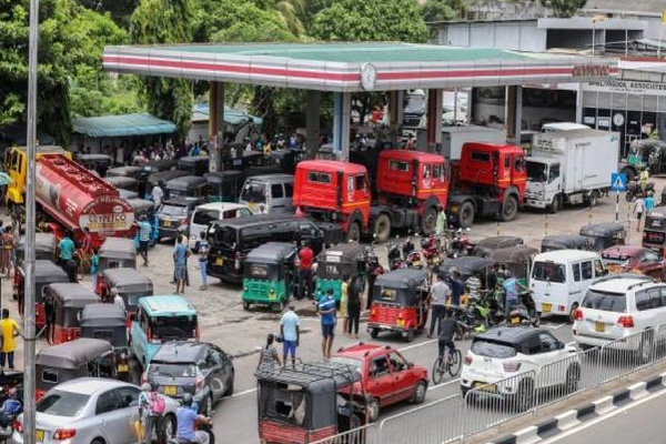
[[[525,153],[519,147],[468,142],[452,169],[448,215],[460,226],[470,226],[475,215],[515,219],[527,183]]]

